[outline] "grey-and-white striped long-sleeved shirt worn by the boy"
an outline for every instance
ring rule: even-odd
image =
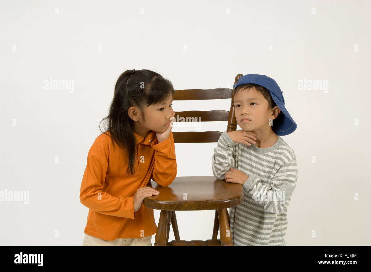
[[[286,246],[287,208],[298,179],[293,149],[279,135],[271,147],[259,148],[235,144],[224,131],[212,167],[220,180],[230,167],[249,176],[243,202],[229,209],[234,246]]]

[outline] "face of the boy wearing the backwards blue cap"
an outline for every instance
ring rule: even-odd
[[[272,115],[274,111],[275,114]],[[268,128],[269,119],[275,119],[279,112],[278,106],[268,110],[267,99],[255,87],[242,89],[234,95],[234,114],[237,124],[244,131]]]

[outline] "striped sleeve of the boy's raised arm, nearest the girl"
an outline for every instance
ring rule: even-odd
[[[218,180],[223,180],[230,167],[234,168],[234,142],[224,131],[218,140],[218,145],[214,148],[213,155],[213,174]]]

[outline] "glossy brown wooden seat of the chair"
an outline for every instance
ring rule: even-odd
[[[218,210],[243,202],[241,184],[214,176],[176,177],[167,187],[152,180],[147,186],[160,192],[143,200],[144,206],[156,210]]]

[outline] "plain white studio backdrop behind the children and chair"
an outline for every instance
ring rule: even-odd
[[[282,136],[299,172],[286,245],[371,245],[370,11],[370,1],[2,1],[0,191],[27,191],[29,204],[0,202],[0,245],[82,245],[86,158],[127,69],[156,71],[175,89],[233,88],[237,73],[275,79],[298,124]],[[73,85],[48,90],[50,78]],[[178,176],[212,176],[215,146],[176,144]],[[211,239],[214,211],[177,220],[181,239]]]

